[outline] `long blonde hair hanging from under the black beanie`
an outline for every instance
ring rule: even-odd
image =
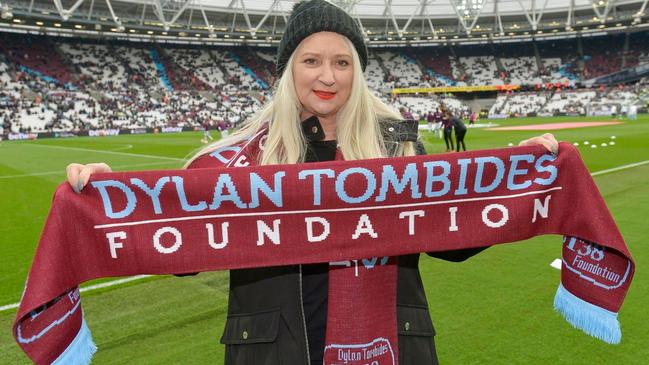
[[[351,41],[345,38],[352,53],[354,76],[349,100],[336,116],[336,138],[338,147],[346,160],[388,157],[383,142],[379,121],[400,120],[401,115],[373,95],[361,72],[358,52]],[[295,53],[289,58],[282,76],[277,82],[273,98],[231,136],[218,140],[198,151],[187,163],[189,166],[198,157],[218,148],[231,146],[252,138],[268,127],[260,165],[293,164],[304,161],[306,140],[302,134],[301,105],[295,93],[293,63]],[[393,156],[414,155],[413,142],[400,143]]]

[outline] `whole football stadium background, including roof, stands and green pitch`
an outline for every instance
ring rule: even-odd
[[[0,364],[56,187],[70,162],[179,169],[268,100],[296,1],[0,0]],[[579,151],[637,264],[607,345],[553,311],[558,236],[420,270],[444,364],[644,364],[649,236],[648,0],[340,0],[369,50],[372,92],[420,121],[469,126],[469,150],[552,132]],[[471,114],[475,123],[469,125]],[[579,213],[575,213],[579,214]],[[552,285],[549,285],[552,284]],[[222,363],[228,273],[81,287],[95,364]]]

